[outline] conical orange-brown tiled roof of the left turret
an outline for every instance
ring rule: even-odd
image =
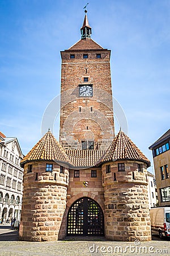
[[[66,152],[49,130],[44,137],[24,156],[23,162],[31,160],[58,160],[70,163]]]

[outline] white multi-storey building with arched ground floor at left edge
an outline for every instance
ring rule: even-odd
[[[23,195],[23,159],[17,138],[0,132],[0,221],[20,219]]]

